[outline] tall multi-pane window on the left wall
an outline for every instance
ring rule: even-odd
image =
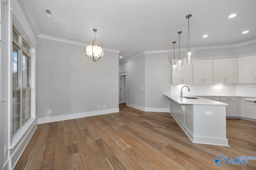
[[[12,31],[12,135],[31,117],[30,47]]]

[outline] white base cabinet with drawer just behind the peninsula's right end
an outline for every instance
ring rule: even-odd
[[[226,116],[237,116],[237,98],[236,97],[221,97],[220,102],[227,103]]]

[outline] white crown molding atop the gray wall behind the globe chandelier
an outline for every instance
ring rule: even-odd
[[[81,42],[78,42],[78,41],[73,41],[73,40],[70,40],[70,39],[64,39],[64,38],[60,38],[60,37],[54,37],[54,36],[46,35],[46,34],[39,34],[38,37],[39,38],[44,38],[44,39],[50,39],[50,40],[54,40],[54,41],[59,41],[59,42],[62,42],[62,43],[80,45],[80,46],[83,46],[83,47],[88,45],[86,43],[81,43]],[[109,49],[109,48],[105,48],[105,47],[103,47],[103,48],[104,48],[104,51],[110,51],[110,52],[113,52],[113,53],[120,53],[120,50]]]

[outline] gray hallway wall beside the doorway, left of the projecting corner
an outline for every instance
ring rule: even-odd
[[[127,106],[145,108],[145,55],[119,65],[119,72],[127,72]]]

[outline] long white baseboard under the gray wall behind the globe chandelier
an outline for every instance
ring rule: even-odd
[[[51,116],[51,117],[42,117],[42,118],[38,118],[38,124],[49,123],[54,121],[63,121],[63,120],[69,120],[69,119],[77,119],[81,117],[104,115],[104,114],[116,113],[116,112],[119,112],[119,108],[98,110],[98,111],[88,111],[83,113],[74,113],[74,114]]]

